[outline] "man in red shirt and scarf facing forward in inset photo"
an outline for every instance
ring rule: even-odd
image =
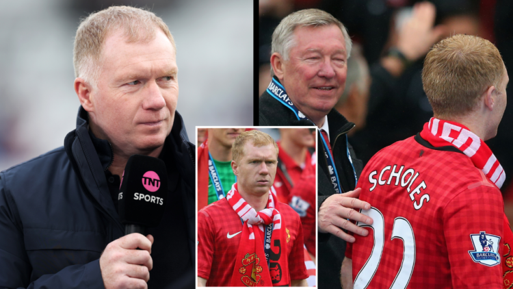
[[[237,182],[198,212],[198,286],[306,286],[300,218],[270,190],[276,142],[245,131],[232,155]]]

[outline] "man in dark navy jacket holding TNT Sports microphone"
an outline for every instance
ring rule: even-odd
[[[64,147],[0,173],[0,287],[193,288],[195,148],[176,112],[167,25],[126,6],[90,14],[73,62],[77,128]],[[118,215],[134,154],[163,160],[172,196],[147,236],[123,236]]]

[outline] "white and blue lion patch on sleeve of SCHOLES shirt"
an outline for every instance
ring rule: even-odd
[[[490,267],[501,262],[501,256],[498,253],[501,237],[486,234],[485,231],[471,234],[470,237],[474,250],[469,251],[469,254],[474,262]]]

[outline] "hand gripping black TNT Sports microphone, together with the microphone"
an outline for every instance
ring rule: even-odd
[[[106,289],[148,288],[153,236],[144,237],[144,233],[146,227],[159,225],[167,194],[166,164],[146,155],[132,155],[124,168],[118,195],[125,236],[110,242],[100,258]]]

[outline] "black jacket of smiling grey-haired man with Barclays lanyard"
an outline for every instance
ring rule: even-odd
[[[298,121],[292,110],[282,105],[267,92],[264,92],[259,99],[259,125],[313,125],[311,121]],[[356,158],[354,150],[346,141],[345,134],[354,127],[354,123],[348,122],[339,112],[331,110],[328,113],[328,127],[330,130],[330,145],[332,147],[333,159],[337,173],[339,174],[340,186],[344,192],[354,190],[356,182],[354,171],[350,160],[347,158],[347,146],[353,161],[356,176],[360,177],[363,164]],[[321,134],[317,135],[317,206],[320,208],[335,190],[330,181],[328,162],[324,158],[324,147],[321,145]],[[319,157],[321,155],[322,157]],[[319,234],[319,248],[317,251],[317,280],[319,288],[340,288],[340,268],[345,252],[345,241],[337,237],[330,237],[330,234]]]

